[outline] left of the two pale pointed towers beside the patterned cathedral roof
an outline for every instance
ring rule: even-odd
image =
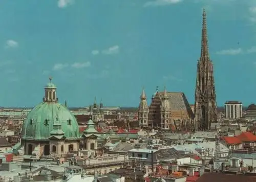
[[[142,89],[142,93],[140,96],[140,105],[138,109],[138,120],[139,125],[141,127],[147,127],[148,126],[148,106],[147,106],[147,100],[146,100],[146,94],[144,88]]]

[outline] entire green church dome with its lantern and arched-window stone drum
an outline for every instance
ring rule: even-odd
[[[77,121],[67,107],[58,103],[57,87],[45,86],[45,97],[23,123],[21,144],[26,155],[61,155],[79,149]]]

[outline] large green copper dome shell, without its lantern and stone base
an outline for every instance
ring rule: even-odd
[[[22,139],[49,140],[52,135],[63,135],[67,140],[80,138],[77,121],[67,107],[57,102],[43,102],[35,106],[24,121]]]

